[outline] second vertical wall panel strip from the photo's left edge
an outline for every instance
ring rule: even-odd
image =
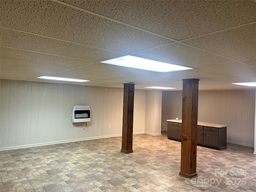
[[[18,100],[18,82],[10,83],[10,109],[9,109],[9,130],[8,146],[14,146],[16,143],[16,124],[17,124],[17,100]]]

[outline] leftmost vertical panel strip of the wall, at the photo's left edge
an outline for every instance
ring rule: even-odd
[[[2,82],[1,92],[1,121],[0,121],[0,146],[8,147],[9,110],[10,110],[10,81]]]

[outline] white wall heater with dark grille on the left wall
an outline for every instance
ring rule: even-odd
[[[72,110],[72,123],[91,121],[90,107],[86,105],[75,105]]]

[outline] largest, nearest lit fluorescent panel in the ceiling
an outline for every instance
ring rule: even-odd
[[[192,68],[178,66],[174,64],[134,57],[130,55],[115,58],[115,59],[110,59],[107,61],[102,61],[102,63],[108,63],[112,65],[149,70],[149,71],[156,71],[156,72],[170,72],[170,71],[192,69]]]

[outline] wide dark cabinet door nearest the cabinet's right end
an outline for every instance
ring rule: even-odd
[[[218,147],[218,128],[204,127],[204,144]]]

